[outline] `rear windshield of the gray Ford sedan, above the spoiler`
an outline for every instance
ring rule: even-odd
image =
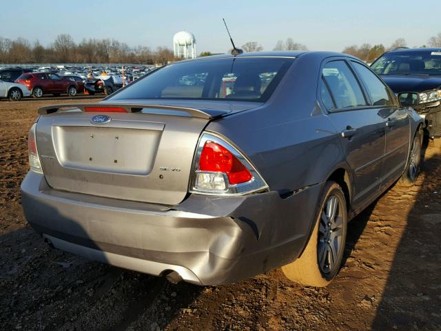
[[[228,58],[177,62],[155,70],[110,99],[196,99],[265,102],[294,59]]]

